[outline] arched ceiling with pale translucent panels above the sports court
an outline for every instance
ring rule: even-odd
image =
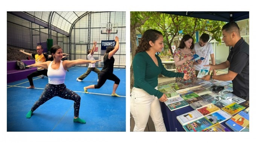
[[[20,18],[37,23],[40,26],[55,30],[64,35],[69,35],[72,24],[81,16],[89,12],[85,11],[24,11],[24,12],[9,12]],[[50,22],[50,23],[49,23]]]

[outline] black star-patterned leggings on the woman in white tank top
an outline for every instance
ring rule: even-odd
[[[52,99],[52,97],[61,97],[63,99],[69,99],[74,101],[74,117],[79,116],[79,108],[80,108],[80,100],[81,97],[72,90],[66,88],[65,84],[53,85],[53,84],[46,84],[43,93],[34,103],[31,108],[31,111],[35,111],[40,105],[45,103],[46,101]]]

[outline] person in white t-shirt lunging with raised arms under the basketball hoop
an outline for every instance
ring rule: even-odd
[[[88,55],[87,55],[88,60],[92,60],[92,61],[95,60],[93,58],[93,53],[94,53],[96,45],[97,45],[97,42],[93,41],[93,48],[91,50],[88,50],[88,52],[87,52],[88,53]],[[85,79],[91,73],[91,71],[94,71],[95,73],[98,74],[98,80],[97,80],[97,82],[98,82],[99,81],[99,73],[101,71],[98,68],[95,67],[95,64],[89,64],[87,71],[84,74],[82,74],[81,76],[79,76],[78,78],[76,78],[76,81],[82,81],[83,79]]]

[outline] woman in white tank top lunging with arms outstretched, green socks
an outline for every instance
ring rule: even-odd
[[[86,123],[85,120],[80,119],[78,117],[81,97],[77,93],[66,88],[66,85],[64,84],[66,71],[68,68],[76,64],[88,64],[88,63],[93,64],[101,60],[91,61],[91,60],[85,60],[85,59],[76,59],[72,61],[69,61],[69,60],[61,61],[63,57],[63,53],[62,53],[62,48],[58,45],[52,46],[50,49],[50,52],[53,56],[53,61],[40,62],[40,63],[35,63],[27,66],[27,67],[47,68],[49,83],[46,84],[46,87],[44,88],[44,91],[41,94],[40,98],[34,103],[31,110],[27,113],[26,117],[30,118],[32,116],[32,113],[40,105],[45,103],[47,100],[50,100],[52,97],[59,96],[63,99],[69,99],[74,101],[73,121],[79,122],[79,123]],[[66,96],[66,95],[69,95],[69,96]]]

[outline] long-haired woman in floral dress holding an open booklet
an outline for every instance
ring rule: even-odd
[[[177,68],[177,72],[186,73],[190,76],[190,79],[196,79],[195,67],[193,61],[194,52],[194,39],[190,35],[183,36],[180,42],[180,46],[174,51],[174,61]],[[176,78],[176,82],[183,82],[186,79],[181,77]]]

